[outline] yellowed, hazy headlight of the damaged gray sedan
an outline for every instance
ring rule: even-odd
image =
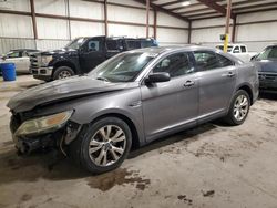
[[[25,121],[16,132],[17,136],[45,134],[54,132],[65,125],[73,111],[62,112],[44,117]]]

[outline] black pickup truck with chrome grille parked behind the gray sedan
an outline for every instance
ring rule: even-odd
[[[44,51],[30,56],[30,72],[34,79],[52,81],[84,74],[109,58],[133,49],[157,46],[154,39],[107,37],[78,38],[55,51]]]

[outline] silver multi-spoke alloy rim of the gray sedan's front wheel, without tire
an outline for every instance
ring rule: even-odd
[[[101,127],[91,138],[89,155],[98,166],[110,166],[116,163],[126,148],[126,135],[116,125]]]

